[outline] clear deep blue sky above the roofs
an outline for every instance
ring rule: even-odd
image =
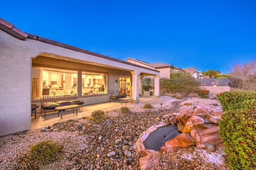
[[[255,0],[9,0],[0,18],[121,60],[228,73],[256,59]]]

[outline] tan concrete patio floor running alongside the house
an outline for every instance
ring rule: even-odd
[[[153,98],[153,97],[140,97],[139,103],[131,103],[128,102],[128,105],[143,105],[145,103],[149,103],[151,105],[160,105],[160,103],[164,103],[166,101],[175,100],[171,97],[159,97],[159,98]],[[65,122],[70,119],[79,119],[82,117],[89,117],[92,112],[96,110],[102,110],[104,112],[111,111],[114,109],[118,109],[122,106],[126,106],[125,103],[122,102],[122,105],[120,102],[105,102],[105,103],[98,103],[94,105],[84,105],[83,109],[81,107],[78,107],[77,109],[77,115],[76,111],[74,111],[74,114],[72,111],[64,111],[62,114],[62,119],[60,119],[60,116],[58,117],[58,112],[56,113],[46,113],[46,117],[44,117],[44,113],[42,115],[40,113],[36,113],[36,119],[34,116],[31,117],[31,127],[30,130],[35,130],[42,127],[48,127],[49,125],[52,126],[54,123],[58,122]]]

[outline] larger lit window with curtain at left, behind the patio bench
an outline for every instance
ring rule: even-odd
[[[72,70],[32,67],[32,99],[77,94],[77,74]]]

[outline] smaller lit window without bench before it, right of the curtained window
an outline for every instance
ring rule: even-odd
[[[82,72],[82,95],[107,93],[107,74]]]

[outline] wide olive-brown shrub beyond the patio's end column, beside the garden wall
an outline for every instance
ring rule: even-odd
[[[170,79],[160,79],[160,89],[167,93],[181,93],[183,96],[198,90],[198,82],[188,73],[172,73]]]

